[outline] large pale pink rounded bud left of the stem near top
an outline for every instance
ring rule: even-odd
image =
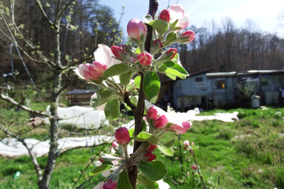
[[[147,34],[147,27],[139,19],[134,18],[127,24],[127,34],[130,38],[134,38],[140,41],[141,35],[144,35],[145,38]]]

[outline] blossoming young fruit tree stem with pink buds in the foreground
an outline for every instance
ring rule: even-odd
[[[75,70],[78,76],[100,87],[92,96],[92,107],[104,110],[108,120],[116,120],[120,104],[125,103],[135,120],[135,128],[116,130],[111,154],[101,153],[97,167],[89,173],[106,177],[94,189],[135,189],[136,185],[147,189],[169,188],[162,181],[167,174],[166,166],[153,151],[158,148],[172,156],[175,136],[185,133],[192,125],[188,120],[199,113],[198,109],[185,114],[166,113],[149,102],[160,91],[158,73],[174,80],[189,76],[177,50],[170,45],[190,43],[195,38],[193,31],[184,31],[189,17],[182,5],[172,5],[156,17],[157,9],[158,2],[150,0],[149,13],[143,18],[145,23],[136,18],[128,22],[128,36],[137,48],[100,44],[94,52],[95,61],[81,64]],[[131,96],[131,91],[139,91],[139,95]],[[172,140],[164,142],[166,133],[173,136]]]

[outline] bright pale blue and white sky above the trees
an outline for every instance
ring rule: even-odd
[[[279,29],[278,26],[281,23],[278,16],[281,10],[284,11],[284,0],[158,0],[158,2],[158,12],[165,9],[168,4],[173,5],[178,2],[183,5],[190,17],[189,26],[210,27],[213,19],[217,26],[221,27],[222,17],[230,17],[238,28],[244,28],[246,19],[251,19],[256,23],[257,30],[277,33],[284,38],[284,29]],[[100,3],[114,9],[118,19],[122,6],[125,7],[121,23],[124,33],[128,21],[132,18],[142,20],[149,7],[149,0],[100,0]],[[284,23],[284,20],[282,22]]]

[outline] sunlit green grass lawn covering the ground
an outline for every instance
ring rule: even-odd
[[[195,154],[206,188],[218,189],[219,178],[221,189],[284,189],[284,108],[214,110],[201,114],[235,111],[239,112],[239,121],[195,121],[192,128],[181,136],[181,143],[189,140],[199,147]],[[9,114],[4,110],[0,113],[5,114],[6,121],[10,120],[11,116],[15,117],[15,113]],[[27,137],[44,138],[48,130],[44,126],[41,129],[42,132]],[[1,131],[0,138],[3,138]],[[102,147],[96,147],[61,154],[57,159],[50,189],[71,189],[89,163],[90,157],[94,157],[101,150]],[[108,148],[104,151],[107,152]],[[182,150],[180,157],[178,140],[174,144],[172,157],[163,155],[158,149],[154,153],[157,154],[157,159],[167,165],[168,174],[164,181],[172,189],[202,188],[200,177],[190,169],[191,165],[195,165],[193,156]],[[42,168],[46,159],[47,156],[38,158]],[[0,189],[37,188],[36,172],[29,156],[12,159],[0,157],[0,166]],[[88,179],[88,173],[92,169],[93,166],[84,172],[76,187]],[[13,179],[16,171],[20,171],[21,175]],[[90,182],[99,178],[101,176],[94,177]],[[88,189],[93,187],[94,185]]]

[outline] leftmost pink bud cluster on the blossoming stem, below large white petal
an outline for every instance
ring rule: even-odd
[[[93,64],[80,64],[79,73],[76,73],[89,82],[92,80],[100,81],[98,77],[103,76],[107,69],[107,65],[95,61]]]

